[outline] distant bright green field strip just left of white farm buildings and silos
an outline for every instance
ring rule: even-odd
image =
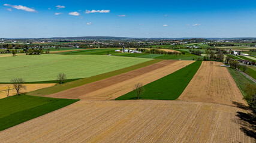
[[[85,49],[85,50],[80,50],[80,51],[71,51],[71,52],[61,52],[58,54],[63,54],[63,55],[85,55],[85,54],[91,54],[91,55],[108,55],[108,54],[113,54],[117,53],[115,50],[118,48],[113,48],[113,49],[106,49],[106,48],[101,48],[101,49]]]

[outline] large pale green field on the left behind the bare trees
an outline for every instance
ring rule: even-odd
[[[68,79],[91,77],[149,61],[149,58],[116,57],[110,55],[18,55],[2,57],[0,82],[22,77],[25,82],[55,80],[58,73]]]

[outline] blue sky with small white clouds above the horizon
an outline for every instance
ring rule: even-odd
[[[255,0],[2,0],[0,38],[256,37],[255,6]]]

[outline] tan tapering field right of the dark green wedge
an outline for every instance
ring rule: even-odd
[[[220,67],[220,64],[222,63],[203,61],[178,99],[228,105],[233,105],[232,101],[246,104],[228,69]]]

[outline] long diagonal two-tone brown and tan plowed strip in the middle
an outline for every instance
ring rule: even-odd
[[[141,69],[129,71],[117,76],[109,77],[97,82],[71,88],[47,97],[86,99],[86,100],[113,100],[134,90],[138,82],[146,85],[161,77],[167,76],[176,70],[182,69],[194,61],[165,60]]]

